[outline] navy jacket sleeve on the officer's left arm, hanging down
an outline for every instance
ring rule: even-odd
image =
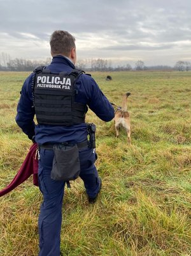
[[[15,118],[18,126],[27,134],[29,139],[34,136],[34,108],[32,103],[32,89],[31,89],[32,75],[29,76],[20,92],[20,100],[17,105],[17,116]]]

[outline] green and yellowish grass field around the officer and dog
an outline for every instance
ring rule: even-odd
[[[0,188],[17,173],[31,146],[15,124],[29,73],[0,73]],[[89,205],[80,179],[64,197],[61,250],[69,256],[191,255],[191,73],[92,73],[104,94],[128,109],[132,145],[113,122],[88,111],[97,125],[97,169],[103,189]],[[1,197],[0,255],[38,255],[41,204],[32,178]]]

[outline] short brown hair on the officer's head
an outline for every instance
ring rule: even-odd
[[[57,30],[50,36],[50,48],[53,55],[63,54],[69,57],[71,49],[75,47],[75,38],[67,31]]]

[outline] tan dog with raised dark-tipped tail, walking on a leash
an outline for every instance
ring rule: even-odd
[[[122,107],[118,107],[115,111],[115,130],[116,130],[116,138],[119,136],[119,129],[120,127],[124,127],[124,129],[127,131],[127,140],[129,144],[131,144],[131,120],[129,112],[127,111],[127,97],[131,95],[130,92],[127,92],[124,94],[122,99]]]

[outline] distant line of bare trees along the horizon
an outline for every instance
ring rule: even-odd
[[[1,71],[33,71],[37,66],[47,66],[51,62],[51,58],[46,60],[26,60],[26,59],[11,59],[7,53],[0,53],[0,70]],[[129,63],[125,65],[113,66],[110,59],[84,59],[78,60],[76,68],[84,71],[144,71],[144,70],[176,70],[190,71],[191,63],[188,61],[178,60],[176,64],[171,66],[145,66],[143,60],[138,60],[134,67]]]

